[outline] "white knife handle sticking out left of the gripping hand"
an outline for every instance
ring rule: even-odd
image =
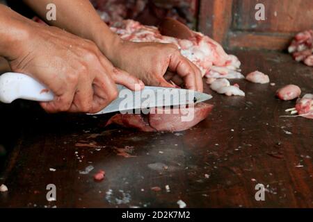
[[[0,101],[12,103],[15,99],[49,102],[54,94],[45,85],[25,74],[7,72],[0,76]]]

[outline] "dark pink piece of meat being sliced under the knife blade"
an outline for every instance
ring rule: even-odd
[[[144,114],[115,114],[106,123],[116,123],[127,128],[136,128],[144,132],[177,132],[187,130],[207,118],[213,105],[207,103],[197,103],[194,107],[173,108],[153,108],[147,115]],[[170,114],[166,112],[170,112]],[[189,121],[182,121],[183,118],[193,117]]]

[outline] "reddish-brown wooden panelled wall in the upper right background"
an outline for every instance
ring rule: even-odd
[[[266,19],[255,19],[263,3]],[[232,48],[286,49],[295,33],[313,28],[312,0],[202,0],[198,29]]]

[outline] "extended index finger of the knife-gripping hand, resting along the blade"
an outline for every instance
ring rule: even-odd
[[[145,83],[139,80],[135,76],[131,76],[127,71],[123,71],[122,69],[118,69],[116,67],[113,68],[112,78],[115,83],[124,85],[125,87],[138,91],[145,87]]]

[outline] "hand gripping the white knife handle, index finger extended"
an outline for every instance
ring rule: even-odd
[[[143,89],[141,80],[113,67],[93,42],[35,23],[29,30],[10,67],[54,92],[54,101],[40,103],[47,112],[99,112],[118,96],[115,83]]]

